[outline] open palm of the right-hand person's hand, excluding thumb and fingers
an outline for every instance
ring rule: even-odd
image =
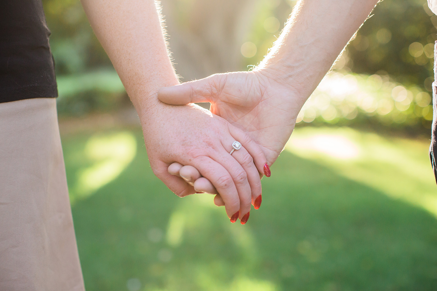
[[[274,81],[259,72],[218,74],[207,79],[208,86],[204,88],[210,95],[211,112],[246,131],[263,148],[269,164],[273,164],[302,107],[290,89],[272,84]]]

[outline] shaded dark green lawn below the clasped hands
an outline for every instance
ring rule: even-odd
[[[425,210],[284,151],[261,208],[231,224],[212,196],[173,195],[135,136],[128,168],[73,205],[87,291],[436,290]]]

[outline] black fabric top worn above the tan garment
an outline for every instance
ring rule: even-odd
[[[0,102],[58,96],[49,36],[41,0],[0,1]]]

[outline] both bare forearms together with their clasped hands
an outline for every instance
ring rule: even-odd
[[[217,194],[231,221],[246,223],[303,104],[378,0],[299,0],[252,71],[183,84],[156,1],[82,3],[139,114],[153,173],[180,197]],[[234,141],[242,147],[230,154]]]

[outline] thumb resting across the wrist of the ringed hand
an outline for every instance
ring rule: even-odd
[[[182,83],[171,87],[164,87],[158,91],[158,99],[163,103],[184,105],[188,103],[211,102],[210,79]]]

